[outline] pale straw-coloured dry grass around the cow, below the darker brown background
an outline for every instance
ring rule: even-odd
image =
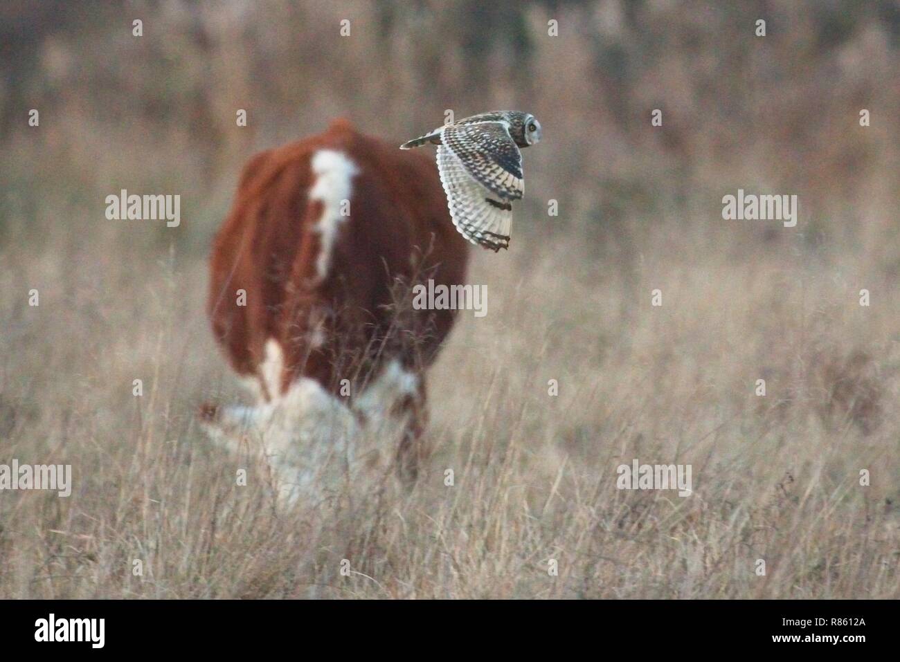
[[[201,261],[16,252],[0,288],[4,457],[70,463],[75,480],[68,498],[4,493],[0,595],[900,594],[898,319],[879,302],[896,284],[863,309],[821,268],[673,255],[652,237],[628,282],[538,242],[477,255],[489,312],[461,316],[430,375],[414,488],[339,481],[288,511],[263,476],[236,487],[246,461],[193,419],[241,397],[198,313]],[[617,490],[634,458],[691,464],[695,493]]]

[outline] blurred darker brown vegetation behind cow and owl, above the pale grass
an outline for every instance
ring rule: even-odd
[[[898,40],[895,0],[6,0],[0,238],[95,227],[127,188],[181,193],[176,241],[202,250],[258,149],[338,115],[400,142],[446,109],[514,107],[545,127],[526,155],[532,231],[633,250],[632,224],[698,232],[740,187],[799,194],[804,246],[882,246],[897,229]]]

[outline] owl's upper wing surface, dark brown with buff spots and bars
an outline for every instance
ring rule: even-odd
[[[441,143],[474,179],[504,201],[519,200],[525,193],[522,153],[505,121],[451,124],[441,130]]]

